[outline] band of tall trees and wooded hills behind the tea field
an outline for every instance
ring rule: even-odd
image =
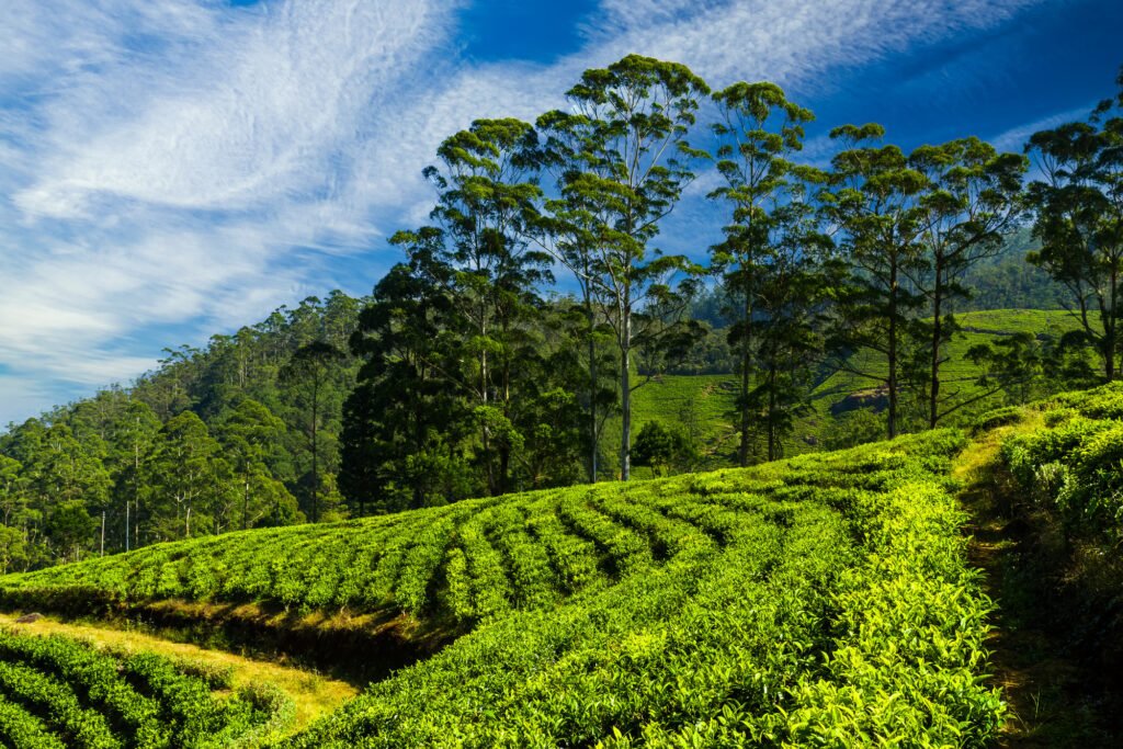
[[[393,235],[400,261],[368,296],[310,296],[9,424],[0,574],[774,460],[815,449],[793,435],[839,373],[871,398],[830,417],[833,446],[1115,381],[1119,83],[1024,153],[967,134],[905,150],[840,124],[815,161],[813,113],[773,83],[711,90],[637,55],[588,70],[566,110],[441,143],[429,221]],[[722,241],[664,254],[660,228],[700,185]],[[1071,325],[957,345],[965,314],[1003,309]],[[728,439],[674,413],[637,423],[645,389],[687,375],[724,376]]]

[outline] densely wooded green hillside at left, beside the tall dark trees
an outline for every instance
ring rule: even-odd
[[[183,483],[167,454],[166,429],[184,412],[198,417],[211,439],[207,485],[192,504],[192,535],[298,522],[296,504],[311,511],[317,500],[329,517],[337,513],[329,505],[338,504],[340,404],[355,360],[319,357],[317,376],[308,377],[300,374],[298,354],[346,347],[359,304],[339,292],[323,302],[309,298],[258,326],[216,336],[204,348],[170,351],[129,390],[109,387],[9,426],[0,435],[0,535],[11,549],[8,565],[29,569],[82,558],[100,552],[102,538],[104,551],[115,552],[184,536],[186,506],[175,499]],[[253,420],[267,424],[267,433],[237,438],[243,427],[230,424],[247,418],[247,401],[257,404]],[[263,440],[267,449],[243,449]],[[48,524],[57,508],[74,502],[97,530],[84,522]],[[67,536],[66,528],[74,532]]]

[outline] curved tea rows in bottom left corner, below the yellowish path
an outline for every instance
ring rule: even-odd
[[[0,630],[0,738],[17,748],[255,746],[292,720],[274,687],[229,689],[221,672]]]

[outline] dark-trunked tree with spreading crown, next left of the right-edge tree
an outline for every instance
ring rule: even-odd
[[[958,329],[949,303],[966,299],[964,275],[980,261],[1003,249],[1005,232],[1021,212],[1022,175],[1028,162],[1017,154],[999,154],[970,137],[942,146],[922,146],[909,155],[910,165],[929,181],[922,199],[929,211],[922,238],[926,262],[913,277],[931,311],[928,359],[928,426],[975,402],[941,396],[940,367],[944,347]]]

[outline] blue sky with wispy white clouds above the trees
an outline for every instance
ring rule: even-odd
[[[769,80],[827,131],[1021,150],[1123,64],[1119,0],[3,0],[0,424],[332,289],[369,293],[472,120],[629,53]],[[703,117],[706,112],[703,112]],[[706,175],[657,245],[720,235]]]

